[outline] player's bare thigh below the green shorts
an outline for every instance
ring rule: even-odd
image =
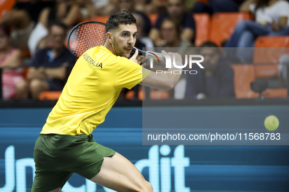
[[[117,192],[153,192],[133,163],[118,153],[104,157],[100,172],[90,180]]]

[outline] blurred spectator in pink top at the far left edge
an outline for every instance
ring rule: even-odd
[[[21,51],[10,43],[10,28],[0,24],[0,68],[2,68],[2,98],[28,98],[28,89],[23,78]]]

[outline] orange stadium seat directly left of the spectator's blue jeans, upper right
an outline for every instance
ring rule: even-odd
[[[236,24],[240,20],[251,19],[248,12],[215,13],[211,20],[210,40],[221,46],[222,42],[230,38]]]

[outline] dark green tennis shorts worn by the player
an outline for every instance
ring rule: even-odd
[[[91,179],[103,157],[115,152],[96,143],[92,134],[40,134],[34,148],[35,177],[31,192],[63,188],[72,173]]]

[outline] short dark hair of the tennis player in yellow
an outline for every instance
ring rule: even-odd
[[[136,25],[136,19],[133,17],[133,15],[128,11],[122,11],[112,14],[109,19],[107,20],[105,31],[109,32],[112,29],[115,29],[118,27],[119,24],[135,24]]]

